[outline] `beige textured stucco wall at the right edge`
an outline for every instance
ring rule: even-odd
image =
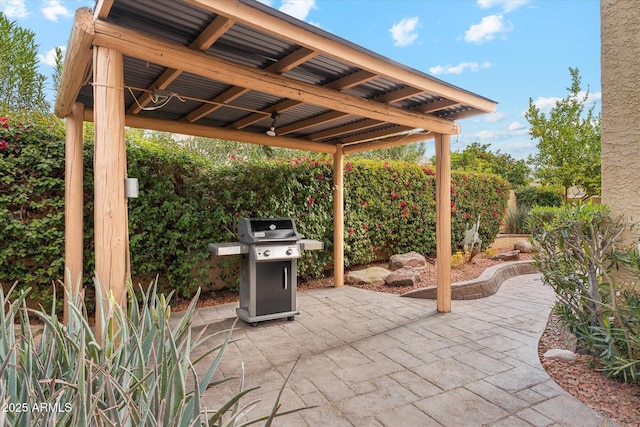
[[[640,3],[602,0],[602,203],[640,221]],[[638,241],[640,230],[625,243]]]

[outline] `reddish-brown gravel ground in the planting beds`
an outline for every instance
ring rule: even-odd
[[[521,259],[530,259],[531,255],[521,254]],[[436,269],[433,260],[427,264],[422,273],[423,286],[435,285]],[[499,264],[501,261],[493,261],[482,254],[472,262],[451,270],[451,281],[459,282],[478,277],[487,267]],[[386,267],[386,264],[378,264]],[[369,266],[367,266],[369,267]],[[357,268],[355,268],[357,269]],[[311,280],[298,284],[298,289],[322,288],[333,286],[333,277]],[[377,292],[390,292],[402,294],[413,287],[389,287],[383,282],[371,285],[359,286]],[[238,293],[234,291],[219,291],[213,296],[202,296],[199,307],[224,304],[238,300]],[[187,302],[188,303],[188,302]],[[181,305],[174,307],[180,311]],[[186,308],[186,304],[184,306]],[[551,348],[563,348],[575,350],[575,339],[562,327],[555,314],[551,314],[547,327],[540,338],[538,354],[542,366],[549,376],[554,379],[568,393],[590,406],[594,410],[605,414],[625,426],[640,427],[640,385],[624,384],[605,377],[598,370],[596,358],[578,355],[575,362],[560,360],[546,360],[542,357],[545,351]]]

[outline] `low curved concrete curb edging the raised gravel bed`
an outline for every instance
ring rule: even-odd
[[[502,282],[521,274],[537,273],[533,260],[512,261],[496,264],[487,268],[482,274],[471,280],[451,284],[451,299],[465,300],[485,298],[495,294]],[[436,299],[436,286],[418,288],[402,294],[403,297]]]

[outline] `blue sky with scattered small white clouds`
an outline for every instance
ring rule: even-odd
[[[567,95],[569,67],[600,111],[600,3],[596,0],[262,0],[383,56],[498,102],[495,114],[460,121],[452,150],[478,141],[526,158],[536,151],[524,111]],[[0,0],[36,33],[41,71],[65,46],[74,11],[91,0]],[[52,95],[53,98],[53,95]],[[427,155],[433,154],[427,144]]]

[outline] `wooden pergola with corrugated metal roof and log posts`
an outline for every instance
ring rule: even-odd
[[[98,0],[76,12],[55,105],[67,120],[66,286],[82,274],[84,121],[95,125],[96,275],[123,305],[125,126],[331,154],[335,286],[344,280],[344,156],[434,139],[437,308],[448,312],[449,136],[456,120],[495,107],[254,0]]]

